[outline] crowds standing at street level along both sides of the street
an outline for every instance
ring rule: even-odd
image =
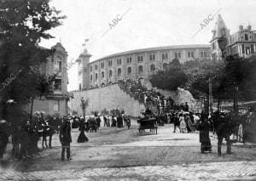
[[[255,111],[249,110],[246,114],[227,113],[224,111],[214,112],[212,115],[204,113],[194,114],[185,104],[178,109],[172,109],[166,113],[155,113],[147,108],[144,116],[154,118],[157,125],[173,123],[173,133],[200,133],[201,153],[212,151],[209,133],[212,131],[218,136],[218,155],[221,156],[221,145],[223,139],[227,142],[227,153],[231,153],[230,135],[233,134],[237,141],[252,141],[251,133],[255,132]],[[121,111],[118,111],[119,113]],[[125,114],[114,114],[99,116],[44,116],[43,112],[36,112],[32,119],[27,119],[24,124],[15,126],[5,120],[0,121],[0,158],[2,160],[6,145],[11,136],[13,154],[17,158],[38,155],[38,141],[42,138],[42,148],[51,147],[51,137],[59,133],[61,141],[61,159],[64,160],[67,152],[67,160],[70,160],[70,143],[72,142],[72,128],[79,128],[78,143],[87,142],[89,139],[84,132],[96,132],[101,127],[131,127],[131,117]],[[123,112],[124,113],[124,112]],[[253,129],[254,127],[254,129]],[[46,137],[49,137],[47,144]],[[255,141],[255,140],[254,140]]]

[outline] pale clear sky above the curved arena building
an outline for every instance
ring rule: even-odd
[[[43,39],[40,45],[50,48],[61,41],[67,62],[79,57],[85,39],[90,62],[138,48],[207,44],[217,15],[202,29],[201,24],[217,12],[231,34],[249,23],[256,30],[255,0],[52,0],[50,5],[67,19],[49,31],[55,38]],[[69,69],[68,79],[68,91],[77,90],[77,65]]]

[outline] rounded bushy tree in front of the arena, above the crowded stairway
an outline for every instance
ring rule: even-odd
[[[164,65],[164,71],[158,71],[149,78],[153,87],[166,90],[177,90],[178,87],[183,86],[186,80],[187,76],[178,59],[173,59],[172,63]]]

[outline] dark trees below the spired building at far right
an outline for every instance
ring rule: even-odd
[[[184,67],[190,77],[186,85],[193,95],[207,95],[208,80],[212,78],[212,95],[218,99],[218,105],[221,99],[233,99],[234,110],[237,110],[238,99],[256,98],[253,91],[256,85],[256,59],[253,56],[250,59],[230,55],[224,60],[193,60],[186,62]]]

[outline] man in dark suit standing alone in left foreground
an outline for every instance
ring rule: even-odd
[[[60,141],[61,141],[61,147],[62,147],[61,160],[64,161],[65,150],[67,150],[67,160],[71,160],[70,158],[70,143],[72,143],[71,127],[70,127],[70,122],[68,122],[67,118],[64,118],[64,121],[61,124]]]

